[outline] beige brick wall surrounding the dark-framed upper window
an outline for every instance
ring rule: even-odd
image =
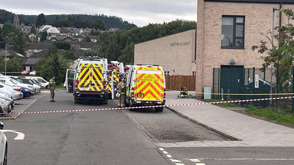
[[[220,65],[235,65],[260,68],[263,60],[257,51],[252,52],[252,45],[259,45],[260,40],[267,40],[260,33],[272,29],[273,7],[279,4],[204,2],[198,0],[197,16],[197,73],[196,92],[203,92],[203,87],[212,87],[213,68]],[[294,5],[283,5],[293,8]],[[221,49],[222,15],[245,16],[245,49]],[[284,16],[282,24],[288,23]],[[275,12],[275,26],[279,26],[279,11]]]

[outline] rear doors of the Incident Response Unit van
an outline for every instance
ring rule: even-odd
[[[160,101],[164,98],[164,73],[159,67],[138,67],[134,97],[137,101]]]

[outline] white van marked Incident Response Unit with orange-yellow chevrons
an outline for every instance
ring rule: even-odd
[[[164,105],[165,78],[163,68],[155,64],[130,66],[126,79],[126,90],[126,105],[129,107]],[[162,112],[163,108],[155,107],[155,111]],[[131,108],[130,111],[136,111],[136,109]]]

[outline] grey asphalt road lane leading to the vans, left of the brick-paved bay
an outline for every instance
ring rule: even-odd
[[[74,104],[72,94],[57,91],[38,99],[26,111],[116,107]],[[120,110],[20,115],[3,121],[8,137],[8,164],[169,164],[158,148]]]

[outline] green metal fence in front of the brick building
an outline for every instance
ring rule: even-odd
[[[221,67],[213,69],[213,86],[212,93],[223,93],[224,95],[214,94],[214,99],[243,100],[243,99],[260,99],[271,97],[286,96],[282,93],[294,93],[294,67],[289,72],[289,80],[282,83],[281,73],[279,69],[273,68],[240,68],[240,67]],[[285,73],[283,73],[285,74]],[[272,75],[272,76],[271,76]],[[258,80],[257,80],[258,78]],[[281,81],[280,81],[281,80]],[[288,84],[288,88],[287,88]],[[272,91],[272,92],[271,92]],[[226,94],[248,94],[248,95],[226,95]],[[273,95],[250,95],[250,94],[268,94]],[[281,93],[274,95],[275,93]],[[289,96],[289,95],[287,95]],[[291,95],[293,96],[293,95]],[[294,112],[294,98],[280,100],[264,100],[244,102],[244,107],[274,107],[276,109]]]

